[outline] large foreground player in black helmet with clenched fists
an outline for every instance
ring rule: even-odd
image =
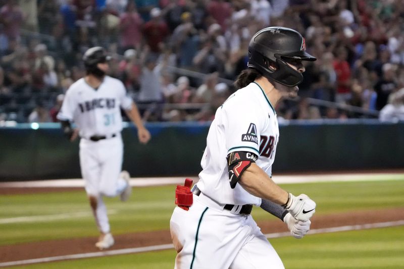
[[[284,268],[250,215],[253,205],[284,221],[295,238],[310,229],[316,203],[288,193],[271,176],[279,141],[274,108],[283,97],[297,96],[302,61],[316,58],[298,32],[283,27],[256,33],[248,57],[239,90],[219,107],[209,129],[198,183],[177,186],[170,221],[175,268]]]

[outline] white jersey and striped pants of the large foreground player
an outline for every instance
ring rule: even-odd
[[[197,183],[201,193],[193,194],[188,211],[175,207],[170,219],[175,269],[284,269],[252,216],[224,209],[224,204],[261,204],[261,198],[239,184],[230,188],[227,155],[255,153],[257,165],[271,175],[278,138],[274,108],[257,83],[239,89],[219,107],[201,160]]]

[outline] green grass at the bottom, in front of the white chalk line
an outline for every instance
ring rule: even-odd
[[[404,227],[370,229],[271,239],[288,269],[324,268],[402,268],[404,264]],[[131,255],[59,261],[19,268],[135,268],[174,267],[175,251],[155,251]]]

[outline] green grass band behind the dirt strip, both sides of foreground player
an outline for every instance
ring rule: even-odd
[[[359,209],[381,209],[404,205],[404,180],[287,184],[283,188],[308,194],[317,202],[316,215]],[[168,230],[174,208],[174,186],[134,188],[126,203],[107,198],[114,234]],[[257,221],[274,219],[255,207]],[[78,214],[71,218],[2,223],[8,218]],[[0,198],[0,245],[74,237],[97,236],[84,190],[3,195]]]

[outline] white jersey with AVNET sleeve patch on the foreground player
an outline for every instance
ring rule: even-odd
[[[239,184],[230,188],[226,157],[233,151],[259,156],[256,164],[269,176],[279,139],[274,107],[257,83],[237,90],[216,111],[201,160],[198,188],[222,204],[261,204]]]

